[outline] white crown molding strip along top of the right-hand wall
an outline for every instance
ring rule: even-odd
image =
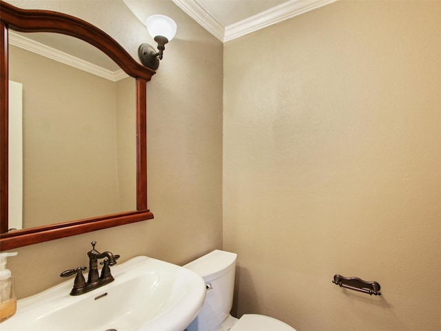
[[[230,41],[245,34],[291,19],[310,10],[326,6],[338,0],[291,0],[252,17],[225,27],[223,41]]]

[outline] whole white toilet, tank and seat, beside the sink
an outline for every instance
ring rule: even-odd
[[[291,326],[264,315],[245,314],[236,319],[229,314],[233,305],[237,254],[214,250],[186,265],[207,285],[201,311],[188,331],[296,331]]]

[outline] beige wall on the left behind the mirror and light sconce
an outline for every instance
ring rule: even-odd
[[[92,21],[134,56],[140,43],[154,43],[123,1],[8,2]],[[121,262],[147,255],[184,264],[222,247],[223,44],[172,1],[136,4],[139,16],[161,12],[178,24],[147,83],[148,204],[155,218],[17,249],[8,267],[19,298],[64,281],[63,270],[87,265],[92,240],[100,251],[121,254]]]

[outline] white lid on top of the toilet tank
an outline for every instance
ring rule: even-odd
[[[186,265],[185,268],[196,272],[205,281],[211,281],[225,274],[236,263],[236,253],[214,250]]]

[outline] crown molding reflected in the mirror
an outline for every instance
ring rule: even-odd
[[[48,57],[49,59],[52,59],[54,61],[67,64],[68,66],[72,66],[91,74],[95,74],[96,76],[108,79],[110,81],[119,81],[128,77],[128,75],[121,69],[116,71],[107,70],[100,66],[96,66],[88,61],[79,59],[78,57],[74,57],[65,52],[61,52],[60,50],[56,50],[55,48],[46,46],[43,43],[39,43],[37,41],[33,41],[32,39],[23,37],[21,34],[17,34],[12,30],[9,30],[8,37],[9,43],[13,46],[17,46],[19,48],[23,48],[24,50],[34,52],[43,57]]]

